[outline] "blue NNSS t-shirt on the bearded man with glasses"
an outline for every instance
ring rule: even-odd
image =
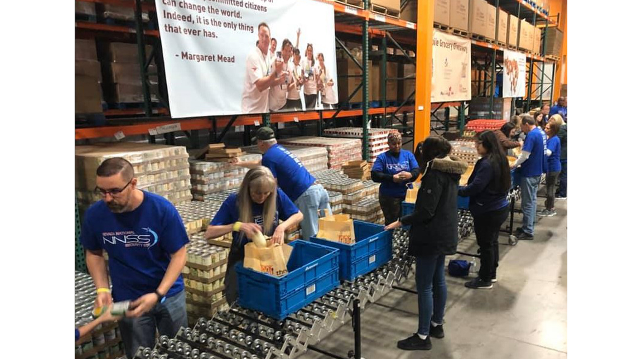
[[[85,212],[80,242],[90,251],[107,251],[114,301],[153,293],[167,271],[171,253],[189,242],[176,208],[157,194],[143,191],[143,195],[143,203],[132,212],[113,213],[104,201]],[[179,275],[166,296],[183,288]]]

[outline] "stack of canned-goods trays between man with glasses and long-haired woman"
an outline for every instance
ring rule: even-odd
[[[190,237],[187,263],[182,272],[189,317],[212,317],[228,308],[223,296],[228,255],[229,249],[209,244],[204,232]]]

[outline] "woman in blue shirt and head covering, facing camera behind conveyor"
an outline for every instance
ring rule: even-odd
[[[419,165],[415,155],[401,149],[401,133],[388,134],[388,147],[385,153],[379,154],[370,171],[372,181],[379,186],[379,205],[385,217],[386,226],[399,219],[401,202],[406,198],[406,183],[419,176]]]

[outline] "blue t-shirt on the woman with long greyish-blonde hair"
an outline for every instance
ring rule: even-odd
[[[221,208],[218,210],[218,212],[216,212],[216,215],[214,215],[212,222],[210,222],[211,226],[225,226],[226,224],[232,224],[239,220],[239,207],[237,198],[238,194],[234,193],[230,194],[230,196],[225,199],[225,202],[223,202]],[[264,234],[271,236],[274,229],[279,225],[278,219],[281,219],[281,221],[286,221],[292,215],[297,214],[297,212],[299,212],[299,208],[297,208],[297,206],[295,206],[294,203],[290,201],[290,198],[286,196],[281,188],[277,188],[277,211],[274,215],[272,231],[270,231],[270,233],[265,233],[264,229]],[[263,205],[252,203],[252,215],[254,215],[254,223],[263,228]],[[241,242],[239,243],[239,233],[241,232],[232,232],[232,241],[235,245],[239,245],[242,248],[243,246],[245,246],[245,244],[247,244],[248,238],[245,238],[245,235],[243,235],[243,238],[241,238]]]

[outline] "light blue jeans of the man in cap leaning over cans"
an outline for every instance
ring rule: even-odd
[[[313,235],[317,235],[319,230],[319,213],[318,210],[327,210],[326,215],[332,214],[330,208],[330,197],[327,196],[327,191],[322,185],[311,185],[306,192],[303,192],[294,204],[299,207],[303,213],[303,221],[301,221],[301,238],[309,240]]]

